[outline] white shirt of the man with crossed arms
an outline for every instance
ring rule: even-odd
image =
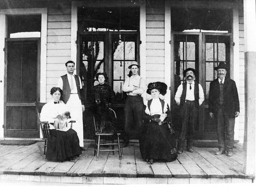
[[[134,87],[138,87],[139,89],[134,89]],[[146,81],[145,79],[141,78],[139,75],[131,76],[130,78],[127,77],[123,84],[123,91],[127,92],[129,96],[137,96],[142,95],[146,90]]]

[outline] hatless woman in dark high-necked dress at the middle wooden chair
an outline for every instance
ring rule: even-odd
[[[99,84],[93,87],[92,111],[95,117],[97,132],[114,133],[116,132],[116,119],[109,108],[111,103],[115,101],[115,92],[108,84],[106,84],[108,81],[106,73],[97,73],[96,79]]]

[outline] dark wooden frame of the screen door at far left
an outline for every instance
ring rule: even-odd
[[[8,48],[7,48],[7,44],[9,41],[37,41],[37,89],[36,89],[36,95],[37,95],[37,101],[40,101],[40,49],[41,49],[41,45],[40,45],[40,38],[6,38],[5,39],[5,76],[4,76],[4,137],[6,137],[7,135],[7,115],[6,115],[6,107],[7,106],[15,106],[15,104],[10,104],[7,105],[7,54],[8,54]],[[23,105],[23,104],[21,104]],[[28,106],[28,105],[23,105],[23,106]],[[35,104],[31,104],[29,106],[35,106]],[[36,113],[37,115],[37,113]],[[38,119],[38,116],[37,116]],[[40,129],[39,129],[39,125],[37,125],[37,131],[38,131],[38,137],[40,134]]]

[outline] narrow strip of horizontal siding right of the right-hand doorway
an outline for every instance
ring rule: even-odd
[[[240,100],[240,118],[239,118],[239,143],[244,142],[244,122],[245,122],[245,61],[244,61],[244,11],[243,2],[239,6],[239,100]]]

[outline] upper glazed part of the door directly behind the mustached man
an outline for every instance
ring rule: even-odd
[[[174,35],[174,93],[185,80],[183,71],[186,68],[191,67],[198,72],[198,42],[198,35]],[[198,78],[199,74],[196,75],[196,79]]]

